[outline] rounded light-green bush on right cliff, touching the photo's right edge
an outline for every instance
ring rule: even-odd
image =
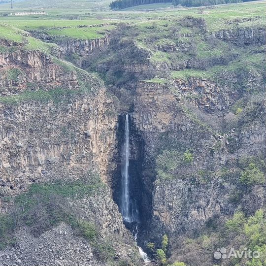
[[[241,172],[239,181],[246,185],[264,184],[265,176],[254,163],[250,163],[248,168]]]

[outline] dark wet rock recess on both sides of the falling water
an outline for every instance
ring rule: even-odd
[[[116,155],[117,167],[114,171],[112,192],[113,199],[121,211],[122,195],[122,150],[124,144],[125,116],[119,115],[117,127],[117,145],[119,153]],[[151,216],[152,210],[152,183],[146,183],[143,179],[143,160],[145,155],[145,143],[140,133],[136,130],[130,118],[130,159],[129,159],[129,183],[130,198],[133,199],[139,212],[138,237],[141,238],[141,231],[145,230],[146,224]],[[132,230],[132,225],[125,223],[126,227]]]

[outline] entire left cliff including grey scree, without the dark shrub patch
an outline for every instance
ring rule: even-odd
[[[1,213],[8,213],[14,201],[7,198],[32,184],[90,179],[91,172],[106,184],[116,166],[117,115],[102,83],[70,63],[22,47],[0,54]],[[141,264],[108,186],[66,200],[79,220],[96,226],[102,246],[111,241],[112,260]],[[99,255],[101,249],[69,223],[40,236],[19,227],[12,237],[16,248],[0,251],[1,265],[108,265],[105,251]]]

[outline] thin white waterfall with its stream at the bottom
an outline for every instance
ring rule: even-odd
[[[140,223],[139,212],[136,204],[136,200],[130,195],[130,175],[129,175],[129,158],[130,158],[130,122],[129,115],[126,114],[126,123],[125,123],[125,133],[124,133],[124,145],[122,152],[122,166],[121,166],[121,175],[122,175],[122,195],[121,195],[121,204],[120,209],[125,223],[130,224],[132,233],[137,243],[137,234],[138,234],[138,224]],[[141,255],[145,264],[149,263],[150,260],[148,255],[138,246],[139,254]]]

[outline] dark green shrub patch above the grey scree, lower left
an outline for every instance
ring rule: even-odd
[[[90,196],[105,185],[97,174],[89,173],[73,182],[33,184],[29,191],[17,196],[8,214],[0,215],[0,249],[15,242],[14,233],[19,226],[29,226],[34,235],[40,235],[60,222],[69,223],[89,240],[97,237],[94,223],[81,219],[77,209],[69,206],[67,198]]]

